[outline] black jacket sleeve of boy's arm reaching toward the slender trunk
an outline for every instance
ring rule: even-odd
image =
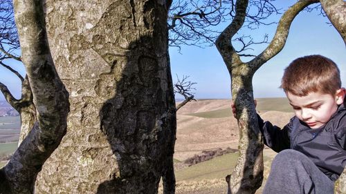
[[[270,147],[277,153],[284,149],[291,148],[290,135],[293,119],[291,119],[291,122],[282,129],[278,126],[273,126],[271,122],[264,122],[260,115],[257,115],[257,119],[266,146]]]

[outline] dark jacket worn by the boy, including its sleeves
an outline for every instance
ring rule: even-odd
[[[263,122],[258,116],[264,144],[280,152],[293,149],[307,155],[322,173],[336,181],[346,166],[346,106],[338,107],[327,124],[311,129],[293,117],[289,124],[280,130],[270,122]]]

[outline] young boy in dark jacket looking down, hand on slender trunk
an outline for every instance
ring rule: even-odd
[[[345,88],[338,67],[320,55],[295,59],[281,88],[295,117],[280,129],[258,116],[264,144],[278,153],[263,193],[334,193],[346,166]]]

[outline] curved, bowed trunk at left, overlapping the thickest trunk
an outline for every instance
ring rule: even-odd
[[[6,166],[0,193],[34,193],[37,173],[66,133],[69,93],[60,81],[48,47],[42,1],[14,1],[21,59],[37,107],[37,122]]]

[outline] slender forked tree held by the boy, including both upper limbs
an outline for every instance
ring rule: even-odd
[[[282,50],[295,16],[302,9],[316,2],[318,1],[298,1],[289,8],[282,15],[271,43],[260,55],[248,63],[242,62],[230,42],[230,39],[244,24],[247,0],[237,1],[235,18],[217,39],[217,49],[223,57],[232,79],[232,98],[237,107],[236,115],[239,126],[239,157],[232,175],[226,177],[228,193],[255,193],[262,184],[263,141],[253,104],[253,75],[260,66]]]

